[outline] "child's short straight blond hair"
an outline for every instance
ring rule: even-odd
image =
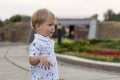
[[[31,25],[35,29],[37,24],[41,25],[45,21],[51,21],[51,20],[56,20],[55,15],[51,11],[43,8],[43,9],[37,10],[32,15],[32,17],[31,17]]]

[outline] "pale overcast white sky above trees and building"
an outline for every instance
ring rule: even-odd
[[[120,13],[120,0],[0,0],[0,19],[5,20],[13,15],[31,16],[36,10],[47,8],[58,18],[89,18],[103,14],[111,9]]]

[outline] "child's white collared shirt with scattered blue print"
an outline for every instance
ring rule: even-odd
[[[31,80],[59,80],[54,41],[40,34],[35,34],[34,37],[29,46],[29,56],[44,56],[52,63],[52,66],[45,70],[41,63],[31,65]]]

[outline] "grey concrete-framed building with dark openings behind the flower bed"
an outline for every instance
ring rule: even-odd
[[[96,38],[97,20],[90,19],[66,19],[58,18],[57,25],[63,27],[64,37],[71,39],[94,39]]]

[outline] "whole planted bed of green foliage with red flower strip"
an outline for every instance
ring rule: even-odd
[[[120,61],[120,40],[63,40],[61,45],[55,44],[55,51],[93,60]]]

